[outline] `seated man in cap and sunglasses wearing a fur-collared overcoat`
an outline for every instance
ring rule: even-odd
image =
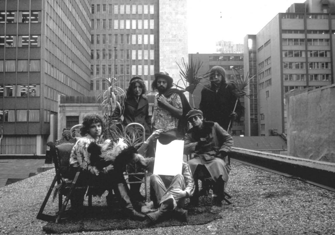
[[[195,153],[188,161],[192,175],[194,180],[201,179],[201,175],[212,177],[214,206],[221,207],[230,171],[227,153],[233,140],[217,123],[204,121],[201,110],[192,109],[186,117],[192,128],[185,135],[184,154]],[[197,204],[198,198],[191,201]]]

